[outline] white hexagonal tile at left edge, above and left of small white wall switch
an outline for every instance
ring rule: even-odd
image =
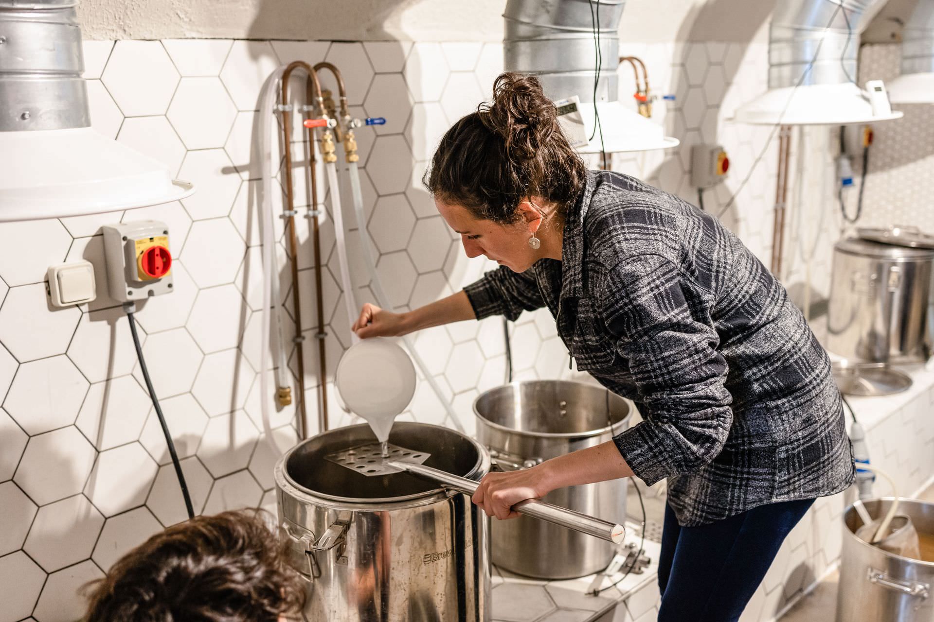
[[[41,283],[70,245],[71,236],[55,219],[0,224],[0,276],[10,287]]]

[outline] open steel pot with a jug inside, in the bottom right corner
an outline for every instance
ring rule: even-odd
[[[881,518],[891,498],[864,502]],[[934,504],[902,499],[899,514],[924,537],[934,535]],[[843,548],[837,622],[930,622],[934,620],[934,561],[899,557],[856,537],[863,521],[851,505],[843,513]]]

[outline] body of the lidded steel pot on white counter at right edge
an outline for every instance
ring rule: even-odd
[[[927,361],[932,261],[930,249],[856,238],[837,242],[828,350],[856,362]]]

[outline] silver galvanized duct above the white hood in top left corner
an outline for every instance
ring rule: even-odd
[[[72,0],[0,0],[0,131],[91,125]]]

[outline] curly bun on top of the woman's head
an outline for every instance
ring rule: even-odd
[[[536,76],[507,72],[493,83],[493,103],[480,106],[483,124],[502,136],[506,153],[532,159],[558,126],[558,110]]]

